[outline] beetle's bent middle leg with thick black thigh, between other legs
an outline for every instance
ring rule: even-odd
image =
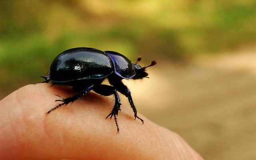
[[[116,128],[117,128],[117,133],[119,133],[119,128],[118,128],[118,122],[117,122],[117,118],[116,116],[118,116],[118,111],[121,110],[120,109],[120,97],[116,91],[116,89],[112,86],[108,86],[106,84],[100,84],[98,86],[95,86],[93,88],[93,91],[102,95],[102,96],[110,96],[112,94],[114,94],[115,96],[115,105],[112,109],[112,111],[110,112],[110,114],[108,114],[108,116],[106,117],[106,119],[110,116],[110,119],[112,118],[112,116],[114,116],[114,120],[116,123]]]

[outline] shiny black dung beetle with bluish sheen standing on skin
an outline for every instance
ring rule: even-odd
[[[74,102],[90,90],[102,96],[114,94],[115,104],[106,118],[110,116],[111,119],[114,116],[117,132],[119,133],[116,116],[121,105],[118,95],[118,92],[120,92],[128,98],[135,119],[138,118],[143,124],[143,120],[137,116],[137,110],[134,106],[130,90],[122,83],[122,79],[137,80],[147,77],[146,68],[156,64],[156,61],[152,61],[149,66],[141,67],[138,64],[140,60],[141,58],[138,58],[137,62],[133,64],[128,58],[118,52],[103,52],[94,48],[85,47],[72,48],[60,53],[51,64],[50,73],[46,76],[41,76],[45,79],[42,83],[50,82],[53,85],[71,86],[77,94],[68,98],[62,98],[56,95],[61,99],[55,101],[62,103],[48,110],[46,114],[49,114],[62,105]],[[102,84],[106,78],[111,86]]]

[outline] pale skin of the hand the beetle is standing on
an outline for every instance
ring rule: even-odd
[[[50,84],[28,85],[0,101],[0,159],[74,160],[203,160],[178,134],[144,120],[135,120],[130,106],[114,120],[112,97],[88,93],[49,115],[70,88]],[[124,103],[125,104],[125,103]]]

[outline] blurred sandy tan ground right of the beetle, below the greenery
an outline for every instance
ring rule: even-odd
[[[255,160],[255,52],[200,56],[185,66],[158,62],[149,79],[126,84],[139,112],[206,160]]]

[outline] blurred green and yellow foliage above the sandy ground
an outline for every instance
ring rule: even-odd
[[[2,0],[0,91],[38,82],[78,46],[180,60],[256,42],[254,0]]]

